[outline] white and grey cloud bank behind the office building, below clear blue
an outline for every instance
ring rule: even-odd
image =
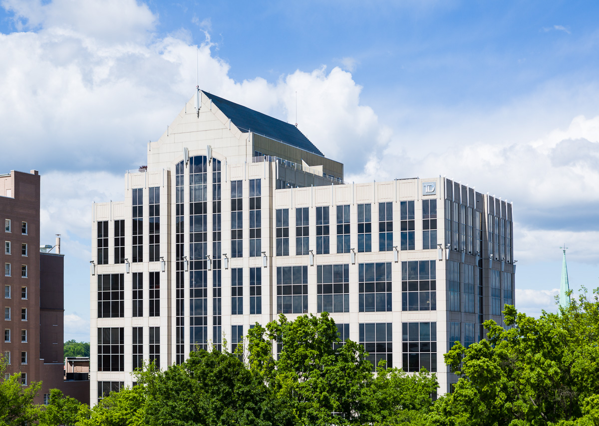
[[[63,235],[72,268],[66,282],[80,305],[89,300],[91,203],[122,198],[123,172],[146,162],[147,142],[192,96],[197,75],[202,89],[265,114],[295,123],[297,112],[299,129],[346,165],[347,181],[441,174],[504,195],[515,203],[522,262],[559,261],[564,241],[570,258],[599,260],[591,220],[599,207],[599,117],[573,114],[566,127],[539,130],[527,120],[540,102],[531,101],[461,114],[445,127],[438,117],[450,114],[408,112],[410,99],[397,99],[397,119],[386,114],[383,122],[361,101],[349,57],[347,71],[323,65],[275,81],[235,81],[215,53],[210,17],[192,18],[202,29],[196,44],[186,29],[159,36],[159,17],[132,0],[1,4],[18,31],[0,34],[0,168],[41,171],[42,239]],[[74,315],[72,306],[66,311]],[[72,327],[65,337],[79,333]]]

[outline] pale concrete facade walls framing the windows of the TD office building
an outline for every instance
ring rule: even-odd
[[[116,385],[114,383],[108,385],[113,389],[118,388],[121,382],[124,385],[131,385],[134,382],[135,379],[131,375],[134,358],[133,327],[141,327],[143,331],[143,344],[140,347],[143,348],[141,356],[145,360],[150,358],[150,327],[159,327],[159,364],[162,369],[181,361],[183,359],[181,355],[186,357],[195,343],[206,348],[210,348],[212,343],[217,343],[214,342],[214,336],[216,336],[214,327],[219,322],[220,336],[227,340],[229,349],[231,349],[232,325],[243,325],[243,334],[247,334],[250,325],[255,322],[265,325],[276,319],[279,314],[281,309],[277,305],[277,297],[282,295],[277,294],[277,268],[287,266],[305,266],[307,268],[305,270],[307,272],[307,294],[301,290],[302,295],[307,296],[307,309],[302,305],[301,313],[285,314],[292,320],[305,312],[318,314],[317,296],[320,287],[317,284],[317,270],[319,266],[331,264],[345,264],[349,270],[349,291],[343,290],[342,293],[339,293],[348,297],[349,309],[347,312],[332,312],[331,317],[335,322],[349,324],[349,338],[357,342],[361,340],[360,324],[392,324],[392,333],[390,334],[392,341],[389,342],[389,339],[386,339],[387,346],[385,346],[386,349],[383,349],[385,356],[391,361],[392,367],[404,367],[404,355],[416,347],[409,346],[409,342],[403,342],[403,323],[422,322],[436,325],[437,349],[434,353],[437,356],[436,371],[440,383],[439,393],[447,392],[449,384],[455,382],[455,376],[447,372],[442,355],[450,346],[451,337],[455,337],[455,330],[459,328],[459,339],[462,343],[472,340],[472,333],[474,333],[474,341],[479,340],[484,337],[480,329],[481,322],[489,318],[501,322],[501,315],[492,315],[497,314],[497,306],[503,307],[503,303],[514,303],[515,264],[513,263],[512,205],[441,177],[344,184],[341,181],[343,175],[335,176],[330,172],[328,175],[323,175],[323,167],[319,167],[324,165],[325,170],[330,170],[337,167],[338,163],[335,164],[322,157],[322,164],[314,163],[310,164],[310,169],[305,168],[305,165],[302,168],[293,162],[294,158],[283,154],[277,155],[277,149],[279,149],[277,147],[280,147],[280,152],[296,150],[297,156],[301,156],[302,159],[308,155],[311,155],[310,158],[314,158],[314,154],[306,153],[299,148],[290,148],[288,144],[275,139],[268,141],[271,144],[268,155],[275,156],[277,159],[254,156],[255,151],[258,151],[256,140],[262,138],[260,140],[264,142],[265,138],[253,132],[244,132],[243,129],[238,129],[231,122],[232,120],[229,120],[229,117],[226,117],[213,104],[209,94],[200,92],[200,97],[199,111],[195,109],[192,99],[159,141],[150,142],[147,170],[128,172],[125,175],[125,200],[93,205],[93,264],[90,270],[90,400],[92,403],[99,397],[98,387],[102,386],[99,384],[100,382],[117,382]],[[261,150],[259,154],[263,152],[264,150]],[[205,159],[201,159],[201,157],[205,157]],[[193,191],[190,187],[190,168],[195,159],[201,159],[204,162],[202,164],[205,164],[205,182],[202,181],[196,186],[201,189],[199,190],[199,201],[194,204],[190,202]],[[314,160],[311,161],[314,162]],[[214,199],[213,193],[216,185],[213,184],[213,181],[218,180],[217,172],[213,171],[213,165],[217,162],[220,162],[220,206]],[[183,172],[182,180],[179,179],[179,192],[183,191],[183,193],[179,198],[177,198],[177,165],[179,165],[179,172]],[[343,166],[340,165],[340,167],[342,170]],[[240,182],[243,193],[241,197],[243,200],[241,202],[243,255],[241,257],[232,257],[230,238],[232,181],[236,182],[235,185]],[[250,257],[250,182],[255,184],[257,181],[261,185],[261,208],[259,209],[261,212],[259,228],[261,230],[261,249],[257,256]],[[280,187],[285,187],[285,189],[277,189]],[[156,260],[153,261],[148,260],[150,254],[149,188],[158,188],[160,194],[159,255],[156,255]],[[134,190],[141,190],[140,192],[143,194],[141,208],[143,212],[143,244],[141,244],[143,261],[133,261],[134,219],[132,209],[134,206],[132,200]],[[194,194],[198,194],[198,190],[195,191]],[[423,230],[423,201],[426,200],[435,200],[437,206],[437,238],[432,248],[424,248],[423,244],[423,232],[425,231]],[[403,220],[401,211],[403,206],[408,205],[406,203],[402,205],[402,202],[413,202],[414,215],[412,219]],[[392,206],[393,248],[391,251],[379,251],[380,203],[391,203]],[[179,214],[177,213],[177,204],[183,208],[182,211],[179,210]],[[361,205],[371,206],[370,252],[359,252],[358,249],[358,208],[361,208]],[[195,238],[199,238],[199,241],[196,242],[190,241],[193,235],[190,233],[190,222],[192,222],[190,209],[194,208],[193,206],[196,206],[196,209],[201,209],[201,214],[195,215],[195,223],[199,224],[198,229],[201,229],[200,232],[195,233]],[[349,246],[355,254],[353,252],[337,253],[337,206],[349,206]],[[319,207],[329,208],[329,254],[319,254],[317,249],[316,209]],[[297,209],[300,208],[308,209],[308,249],[311,254],[296,255],[296,215],[298,214]],[[214,245],[215,239],[218,241],[217,234],[213,233],[215,229],[213,226],[217,221],[215,216],[217,209],[220,209],[220,252]],[[288,210],[289,255],[277,255],[277,209]],[[177,216],[183,219],[184,224],[184,227],[179,229],[179,233],[177,232]],[[124,221],[125,224],[124,257],[128,260],[126,263],[118,263],[117,257],[119,256],[115,254],[114,249],[116,244],[115,222],[119,220]],[[101,224],[99,225],[99,223]],[[107,237],[104,235],[104,231],[101,232],[102,235],[98,235],[99,227],[104,226],[102,223],[107,223]],[[410,237],[410,242],[413,241],[413,248],[410,247],[412,249],[402,249],[402,243],[405,244],[407,241],[402,240],[402,226],[406,227],[404,236],[407,236],[407,232],[412,232]],[[488,232],[489,229],[491,232]],[[101,246],[105,245],[102,238],[104,241],[107,238],[108,241],[107,260],[102,260],[104,254],[100,253],[98,249],[100,247],[101,251]],[[489,242],[489,238],[491,242]],[[179,241],[179,247],[183,252],[177,252],[177,241]],[[264,255],[262,252],[265,252]],[[228,261],[225,261],[225,257]],[[164,259],[164,271],[161,258]],[[435,310],[404,310],[407,306],[404,306],[406,302],[403,300],[407,301],[407,294],[403,294],[403,286],[407,288],[409,283],[410,286],[418,286],[418,282],[414,284],[409,279],[402,279],[402,264],[409,261],[434,261],[436,279],[433,281],[435,281],[436,290],[432,291],[434,295],[430,297],[436,296]],[[453,285],[454,287],[451,289],[453,293],[450,292],[448,284],[450,262],[455,262],[452,265],[459,265],[452,266],[454,269],[455,267],[459,268],[457,269],[459,284]],[[383,279],[383,281],[391,282],[391,286],[386,287],[386,290],[382,292],[382,294],[388,293],[391,297],[391,306],[389,306],[389,302],[385,302],[384,310],[380,310],[380,306],[377,305],[376,309],[373,308],[374,312],[361,312],[368,309],[365,308],[365,303],[361,305],[359,302],[360,294],[365,293],[365,290],[361,291],[359,270],[361,264],[368,263],[385,263],[388,265],[386,268],[391,268],[391,281],[388,281],[389,278]],[[219,269],[219,266],[220,287],[214,281],[217,276],[214,270]],[[406,267],[407,263],[404,265],[404,270]],[[231,275],[232,270],[237,268],[241,268],[243,274],[243,314],[232,314]],[[259,268],[262,274],[261,314],[250,314],[251,268]],[[201,273],[193,275],[193,270],[199,270]],[[492,270],[495,272],[491,272]],[[467,271],[474,273],[473,279],[467,278]],[[152,272],[158,273],[159,276],[160,307],[159,313],[157,311],[155,312],[156,316],[150,317],[149,277]],[[143,315],[140,317],[134,317],[133,311],[134,297],[132,295],[134,294],[133,283],[136,273],[141,273],[143,278]],[[120,275],[123,280],[120,293],[118,288],[109,292],[110,296],[107,296],[105,291],[102,292],[103,296],[101,297],[104,297],[104,300],[106,297],[110,297],[111,303],[114,302],[111,305],[113,308],[110,308],[110,315],[105,312],[101,314],[98,311],[100,294],[98,279],[99,276],[108,274]],[[193,276],[203,276],[204,278],[192,278]],[[420,280],[422,281],[422,278]],[[191,284],[192,281],[196,283],[195,287]],[[201,284],[198,284],[200,281]],[[495,285],[494,289],[492,285]],[[180,288],[179,291],[178,288]],[[198,290],[194,292],[193,288],[198,288]],[[220,291],[220,300],[217,300],[219,298],[216,297],[215,288],[220,289],[218,290]],[[456,288],[458,288],[457,292]],[[384,299],[385,296],[381,297]],[[123,300],[120,300],[121,298]],[[120,303],[120,305],[115,303]],[[214,308],[219,303],[221,315],[214,315]],[[121,307],[119,308],[119,306]],[[195,320],[193,316],[190,316],[190,309],[193,306],[195,306],[194,309],[202,312],[202,315],[195,315]],[[177,307],[179,307],[179,311]],[[346,311],[346,308],[343,308],[343,311]],[[177,321],[181,321],[179,325]],[[198,339],[198,334],[193,337],[193,321],[196,321],[196,327],[205,327],[204,331],[198,331],[201,333],[201,339]],[[450,330],[450,327],[453,328]],[[119,337],[122,340],[114,342],[109,349],[112,358],[111,367],[108,369],[104,367],[105,361],[102,361],[102,366],[99,366],[99,360],[102,359],[98,346],[99,328],[122,329],[122,334]],[[469,330],[470,337],[465,334],[466,328]],[[199,328],[195,328],[195,330],[199,330]],[[180,341],[181,337],[183,342],[179,342],[179,346],[177,346],[177,339]],[[156,343],[153,344],[156,345]],[[116,349],[118,352],[116,355],[113,346],[119,346]],[[377,348],[380,347],[382,346],[377,346]],[[432,352],[431,347],[434,348],[434,346],[426,347],[430,352]],[[423,353],[422,346],[419,348],[419,353]],[[276,345],[274,349],[276,351]],[[177,357],[177,354],[180,356]],[[389,357],[389,355],[392,356]],[[106,389],[107,385],[103,384],[103,386]]]

